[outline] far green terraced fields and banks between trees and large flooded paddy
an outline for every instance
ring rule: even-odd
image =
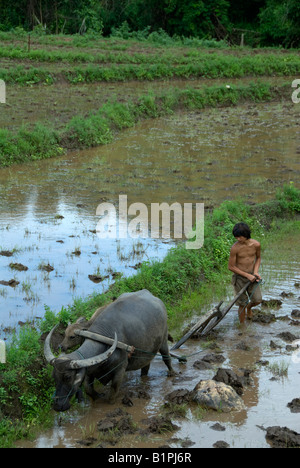
[[[171,38],[162,30],[138,35],[125,24],[114,27],[113,34],[34,33],[29,47],[22,28],[0,31],[0,79],[7,85],[0,115],[0,167],[106,144],[141,119],[178,110],[290,100],[290,77],[300,69],[296,50],[253,53],[224,41]],[[282,77],[280,83],[274,77]],[[207,86],[203,79],[211,83]],[[214,85],[216,79],[224,81]],[[164,80],[166,91],[153,87],[150,92],[145,85]],[[177,89],[175,80],[186,88]],[[144,85],[135,92],[134,86],[131,91],[124,86],[124,95],[121,83],[132,81]],[[100,83],[114,82],[120,83],[117,91],[105,85],[101,90]]]

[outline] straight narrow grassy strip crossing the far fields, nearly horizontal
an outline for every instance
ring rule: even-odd
[[[175,60],[176,62],[176,60]],[[185,61],[187,62],[187,61]],[[58,79],[70,83],[94,83],[99,81],[158,80],[162,78],[241,78],[245,76],[289,76],[298,72],[300,57],[287,55],[284,59],[276,54],[267,56],[232,57],[199,54],[191,57],[187,64],[163,63],[161,58],[154,65],[110,65],[99,67],[88,65],[58,69],[52,72],[45,68],[30,68],[17,65],[9,70],[0,70],[0,78],[6,83],[53,84]],[[57,76],[58,75],[58,76]]]

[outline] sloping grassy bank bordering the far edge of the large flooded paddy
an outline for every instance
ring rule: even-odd
[[[218,85],[201,89],[171,89],[164,94],[148,94],[121,103],[111,101],[88,116],[76,115],[60,131],[36,123],[13,133],[0,130],[0,167],[55,157],[73,148],[87,148],[111,142],[115,134],[142,119],[171,114],[178,110],[233,106],[290,98],[290,82],[281,86],[268,83]]]

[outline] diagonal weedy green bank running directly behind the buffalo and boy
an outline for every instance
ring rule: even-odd
[[[89,318],[97,307],[121,293],[147,288],[165,302],[169,328],[178,335],[193,309],[200,313],[201,307],[214,300],[216,291],[228,285],[227,261],[234,242],[233,225],[246,221],[252,227],[253,237],[262,240],[263,248],[276,250],[281,246],[284,250],[283,239],[287,234],[299,239],[300,221],[296,216],[299,212],[300,190],[293,184],[284,187],[275,200],[263,204],[224,202],[206,216],[202,249],[187,250],[179,245],[163,261],[144,263],[136,275],[119,279],[102,295],[77,300],[57,315],[47,308],[38,329],[21,329],[8,347],[7,364],[0,365],[0,445],[10,446],[51,418],[54,387],[51,368],[43,359],[41,335],[55,323],[65,326],[79,316]]]

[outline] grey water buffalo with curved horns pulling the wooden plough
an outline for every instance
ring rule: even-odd
[[[56,411],[70,408],[70,398],[83,382],[86,393],[97,398],[99,395],[93,387],[95,379],[104,385],[111,381],[110,400],[114,401],[125,372],[141,369],[142,375],[147,375],[157,352],[161,353],[169,373],[174,373],[167,344],[166,308],[146,289],[122,294],[89,327],[90,332],[114,339],[110,348],[86,339],[78,350],[56,358],[50,348],[53,331],[46,338],[44,351],[46,360],[54,367],[53,407]],[[116,348],[117,340],[134,346],[134,353],[128,355],[124,349]]]

